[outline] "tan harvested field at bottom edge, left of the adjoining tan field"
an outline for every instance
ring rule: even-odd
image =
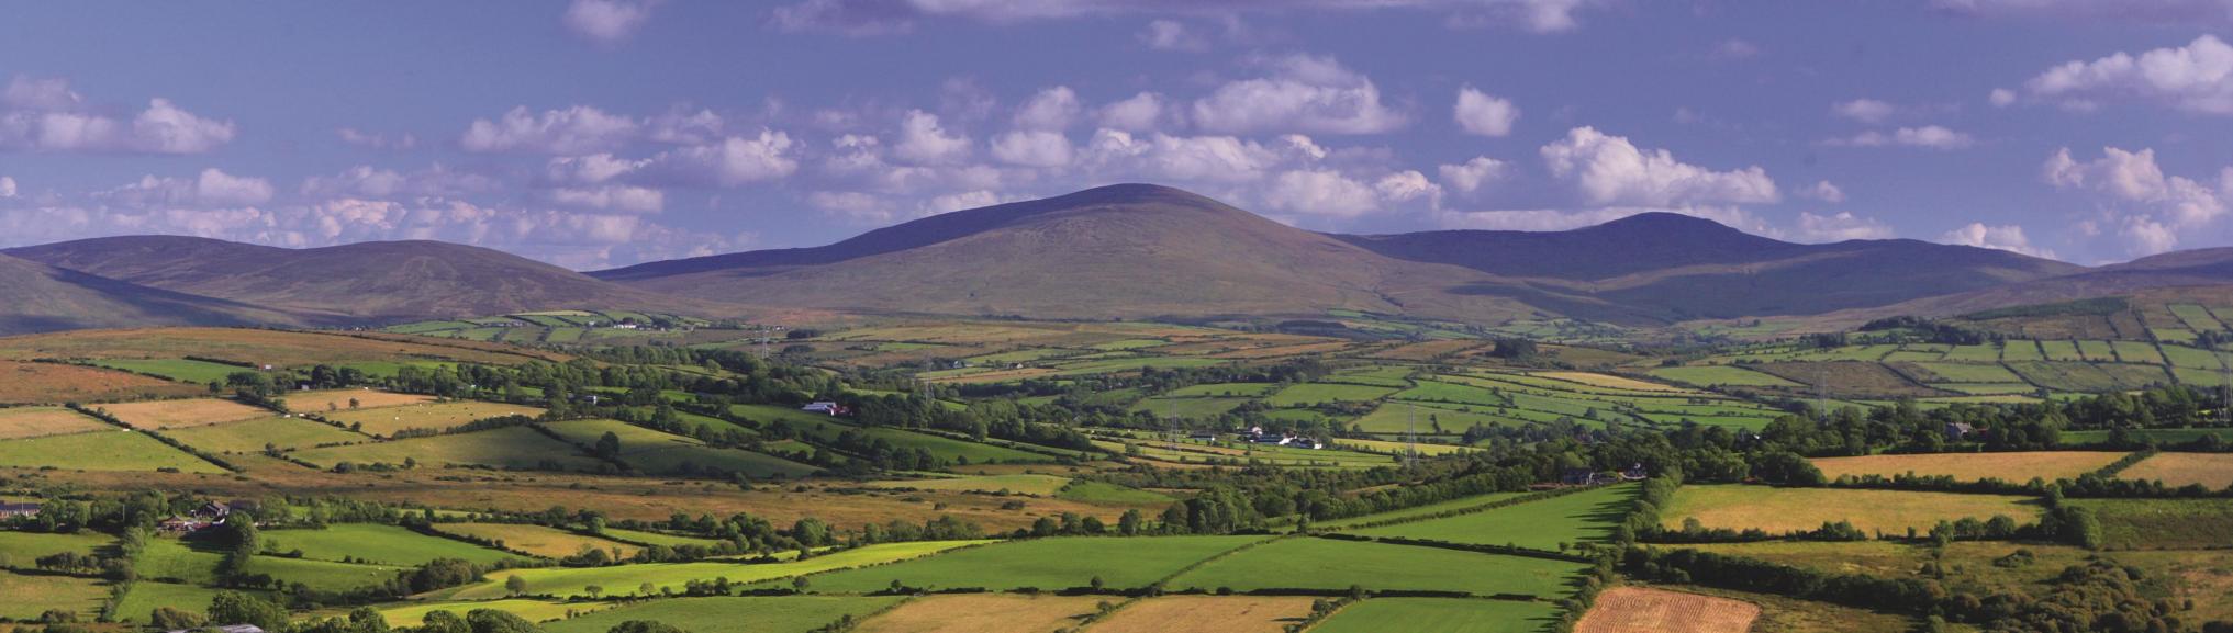
[[[869,617],[860,633],[1045,633],[1094,613],[1099,595],[931,595]]]

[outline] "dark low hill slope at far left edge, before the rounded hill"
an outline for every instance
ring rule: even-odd
[[[141,325],[299,325],[255,305],[145,288],[0,254],[0,334]]]

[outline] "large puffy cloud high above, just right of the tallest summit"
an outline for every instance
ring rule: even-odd
[[[1333,58],[1286,56],[1262,78],[1235,80],[1195,100],[1192,123],[1208,132],[1380,134],[1405,116],[1380,103],[1371,78]]]

